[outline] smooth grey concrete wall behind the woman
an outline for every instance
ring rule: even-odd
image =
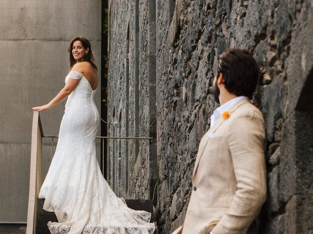
[[[67,47],[75,36],[90,40],[100,68],[101,0],[1,0],[0,222],[26,221],[31,108],[64,87]],[[98,87],[100,112],[100,82]],[[64,105],[41,113],[45,135],[58,135]],[[43,154],[45,175],[51,161],[48,140]]]

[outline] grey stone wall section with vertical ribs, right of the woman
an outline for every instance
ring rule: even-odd
[[[114,123],[108,127],[110,136],[156,134],[151,131],[156,128],[155,7],[150,4],[149,10],[149,2],[109,2],[108,119]],[[111,140],[109,145],[108,180],[116,194],[151,197],[157,174],[156,137]]]

